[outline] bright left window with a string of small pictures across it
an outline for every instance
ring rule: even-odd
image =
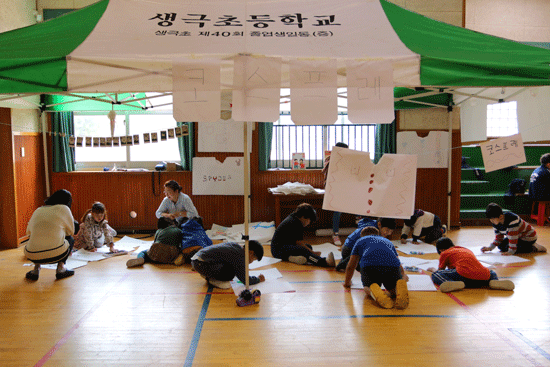
[[[75,113],[75,136],[109,137],[111,124],[107,113]],[[77,147],[77,169],[111,168],[113,164],[126,168],[153,169],[161,161],[180,162],[178,139],[161,141],[160,131],[176,127],[171,112],[117,112],[115,136],[138,135],[139,145],[121,147]],[[158,134],[157,143],[145,143],[144,133]]]

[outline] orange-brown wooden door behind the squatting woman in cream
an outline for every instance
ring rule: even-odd
[[[46,198],[44,150],[40,133],[17,133],[14,134],[13,141],[17,182],[17,235],[21,241],[27,238],[27,223],[32,213],[44,204]]]

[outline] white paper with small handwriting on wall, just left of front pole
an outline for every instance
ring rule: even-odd
[[[244,195],[244,159],[193,158],[193,195]]]

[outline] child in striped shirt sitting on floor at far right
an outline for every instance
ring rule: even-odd
[[[495,203],[487,205],[485,215],[495,229],[495,239],[482,252],[492,251],[498,246],[503,255],[516,253],[546,252],[546,248],[537,243],[537,232],[531,225],[512,212],[504,213]]]

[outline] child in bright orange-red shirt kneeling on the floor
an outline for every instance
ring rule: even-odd
[[[432,280],[441,292],[480,287],[514,289],[511,280],[498,280],[497,274],[484,267],[470,249],[455,246],[450,238],[440,238],[435,246],[439,253],[439,269],[428,270],[433,271]]]

